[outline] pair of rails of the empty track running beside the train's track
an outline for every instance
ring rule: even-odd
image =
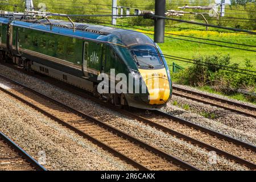
[[[177,165],[179,165],[179,166],[181,166],[181,167],[183,167],[185,169],[196,170],[196,171],[200,170],[200,169],[192,166],[191,164],[188,164],[188,163],[184,162],[183,160],[180,160],[180,159],[176,158],[175,156],[172,156],[172,155],[167,154],[166,152],[164,152],[162,150],[159,150],[159,148],[153,147],[153,146],[143,142],[142,140],[134,138],[134,137],[132,137],[129,134],[123,133],[123,131],[121,131],[121,130],[115,129],[112,126],[110,126],[110,125],[108,125],[108,124],[106,124],[106,123],[104,123],[104,122],[102,122],[102,121],[100,121],[100,120],[98,120],[96,118],[93,118],[92,116],[90,116],[88,114],[82,113],[81,111],[73,109],[72,107],[70,107],[68,105],[65,105],[65,104],[63,104],[63,103],[61,103],[59,101],[56,101],[54,98],[48,97],[48,96],[46,96],[46,95],[44,95],[44,94],[42,94],[40,92],[37,92],[34,89],[28,88],[26,85],[23,85],[23,84],[21,84],[21,83],[19,83],[17,81],[11,80],[10,78],[7,78],[7,77],[5,77],[3,75],[0,75],[0,77],[4,78],[7,81],[10,81],[10,82],[14,83],[15,85],[22,86],[23,88],[29,90],[32,93],[37,94],[40,97],[45,98],[46,100],[52,101],[52,102],[56,103],[57,105],[63,106],[64,108],[66,108],[68,110],[71,110],[73,113],[76,113],[77,115],[80,115],[81,117],[89,119],[90,121],[96,123],[97,125],[100,125],[100,126],[104,127],[105,129],[107,129],[109,131],[112,131],[113,133],[115,133],[115,134],[117,134],[117,135],[119,135],[121,137],[124,137],[124,138],[130,140],[131,142],[137,143],[137,144],[139,144],[139,146],[147,148],[147,150],[149,150],[151,152],[154,152],[155,154],[162,156],[164,159],[170,160],[171,162],[173,162],[173,163],[175,163],[175,164],[177,164]],[[101,143],[97,139],[90,137],[89,135],[85,134],[83,131],[77,129],[76,127],[70,125],[69,123],[67,123],[67,122],[65,122],[65,121],[55,117],[54,115],[48,113],[46,110],[43,110],[43,109],[39,108],[38,106],[35,106],[34,104],[31,104],[30,102],[24,100],[23,98],[21,98],[19,96],[16,96],[14,93],[11,93],[7,89],[3,89],[3,88],[0,88],[0,89],[3,90],[3,92],[5,92],[7,94],[10,94],[11,96],[17,98],[18,100],[20,100],[20,101],[26,103],[27,105],[35,108],[36,110],[41,111],[42,113],[46,114],[48,117],[55,119],[59,123],[63,124],[64,126],[67,126],[69,129],[77,132],[78,134],[82,135],[83,137],[86,137],[86,138],[88,138],[90,140],[93,140],[94,142],[100,144],[101,146],[104,146],[105,148],[108,148],[109,150],[114,152],[115,155],[118,155],[118,156],[121,156],[122,158],[125,158],[127,162],[137,166],[139,169],[148,170],[148,168],[146,168],[146,167],[142,166],[141,164],[135,162],[133,159],[128,158],[127,156],[119,153],[118,151],[114,150],[113,148],[111,149],[110,147],[106,146],[104,143]]]

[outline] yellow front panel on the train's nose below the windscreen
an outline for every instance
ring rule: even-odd
[[[166,69],[139,69],[146,83],[150,105],[165,104],[170,97],[170,85]]]

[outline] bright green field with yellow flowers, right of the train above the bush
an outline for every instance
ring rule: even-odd
[[[168,30],[167,30],[167,32],[168,32]],[[172,34],[181,34],[181,35],[186,35],[186,36],[195,36],[195,37],[205,38],[205,39],[221,40],[224,42],[232,42],[232,43],[240,43],[240,44],[248,44],[248,45],[256,46],[256,36],[254,36],[254,35],[233,34],[233,33],[221,34],[218,32],[215,32],[215,33],[209,32],[208,33],[207,31],[199,31],[199,30],[178,31],[177,28],[174,28],[174,30],[172,30],[171,33]],[[213,34],[213,35],[211,35],[211,34]],[[153,38],[152,35],[149,35],[149,36],[151,38]],[[196,40],[199,42],[221,44],[221,45],[230,46],[230,47],[253,49],[254,51],[256,51],[256,49],[252,48],[252,47],[237,46],[237,45],[232,45],[232,44],[217,43],[217,42],[205,41],[205,40],[197,40],[197,39],[184,38],[182,36],[174,36],[174,35],[167,35],[167,34],[166,34],[166,36],[171,36],[172,38]],[[249,59],[249,60],[251,60],[251,63],[253,64],[254,69],[256,70],[256,59],[255,59],[256,53],[255,52],[243,51],[243,50],[232,49],[232,48],[225,48],[225,47],[220,47],[220,46],[212,46],[212,45],[208,45],[208,44],[193,43],[193,42],[189,42],[189,41],[177,40],[177,39],[172,39],[172,38],[165,38],[164,43],[158,44],[159,47],[162,49],[163,53],[166,55],[172,55],[172,56],[192,59],[194,56],[199,56],[199,55],[213,55],[213,54],[228,55],[229,54],[231,57],[231,59],[230,59],[231,63],[238,63],[240,65],[240,67],[244,67],[245,59]],[[189,65],[191,65],[190,63],[186,63],[183,61],[167,59],[168,64],[172,64],[172,62],[175,62],[176,64],[179,64],[182,67],[189,67]]]

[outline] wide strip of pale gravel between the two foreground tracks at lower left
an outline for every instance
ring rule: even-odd
[[[49,170],[134,169],[2,91],[0,107],[1,131]]]

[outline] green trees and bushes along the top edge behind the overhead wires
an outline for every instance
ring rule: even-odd
[[[2,0],[5,2],[5,0]],[[0,4],[0,9],[8,11],[24,11],[24,0],[9,0],[9,5],[5,3]],[[34,0],[34,6],[36,10],[39,10],[42,6],[40,3],[45,3],[47,11],[53,13],[62,13],[62,14],[111,14],[112,12],[112,1],[111,0]],[[144,1],[144,0],[119,0],[118,6],[126,7],[135,7],[140,10],[151,10],[154,11],[154,1]],[[193,6],[208,6],[214,3],[214,0],[201,0],[201,1],[189,1],[189,0],[167,0],[166,9],[167,10],[180,10],[178,7],[184,5],[193,5]],[[16,6],[15,6],[16,5]],[[106,5],[106,6],[104,6]],[[252,13],[256,9],[255,0],[233,0],[232,5],[225,6],[225,16],[232,16],[234,18],[247,18],[247,19],[256,19],[256,14]],[[134,9],[131,9],[131,14],[133,14]],[[193,13],[208,13],[205,10],[194,10],[194,9],[185,9],[184,11],[193,12]],[[246,28],[250,30],[255,30],[256,24],[253,20],[234,20],[227,19],[225,17],[220,17],[220,21],[214,17],[205,15],[210,24],[217,24],[220,26],[236,27],[236,28]],[[185,15],[180,19],[193,20],[197,22],[204,22],[200,15]],[[97,23],[95,20],[102,20],[102,17],[86,17],[86,18],[73,18],[79,22],[92,22]],[[111,21],[110,17],[105,17],[103,19],[106,22]],[[143,19],[142,17],[138,18],[124,18],[119,19],[118,22],[133,23],[143,26],[152,26],[154,21],[150,19]],[[166,21],[166,26],[174,26],[179,24],[175,21],[168,20]]]

